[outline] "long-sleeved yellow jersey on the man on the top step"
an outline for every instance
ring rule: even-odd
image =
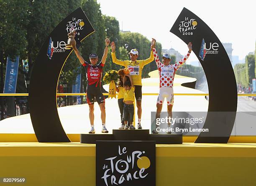
[[[121,61],[119,59],[116,59],[115,52],[114,53],[111,52],[111,56],[115,64],[125,66],[125,68],[131,71],[130,75],[133,80],[133,85],[140,85],[140,86],[142,86],[141,73],[142,73],[143,67],[146,64],[149,64],[150,62],[154,61],[153,51],[150,52],[150,57],[148,59],[136,60],[136,61],[131,61],[131,60]]]

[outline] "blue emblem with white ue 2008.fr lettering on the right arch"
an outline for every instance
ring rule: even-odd
[[[199,51],[199,57],[204,61],[206,54],[219,54],[218,51],[219,44],[218,43],[211,43],[209,48],[207,48],[207,43],[205,42],[204,38],[202,38],[202,43]]]

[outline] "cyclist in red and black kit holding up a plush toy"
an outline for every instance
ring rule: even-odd
[[[107,55],[108,55],[108,45],[110,40],[108,38],[105,39],[105,49],[104,54],[102,56],[102,60],[99,64],[97,54],[90,54],[90,62],[89,64],[87,61],[83,59],[81,54],[79,53],[75,40],[70,42],[72,44],[72,48],[74,49],[77,58],[79,59],[82,66],[84,66],[87,78],[87,103],[89,105],[89,118],[91,123],[91,129],[89,131],[90,134],[95,133],[94,129],[94,101],[95,98],[100,106],[101,111],[101,120],[102,120],[102,130],[103,133],[108,133],[107,128],[105,127],[106,122],[106,112],[105,112],[105,98],[101,92],[101,76],[102,76],[102,69],[105,64]]]

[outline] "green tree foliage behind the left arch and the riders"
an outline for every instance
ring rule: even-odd
[[[120,33],[118,20],[102,15],[100,4],[96,0],[51,0],[51,3],[39,0],[0,0],[0,62],[6,64],[7,56],[14,58],[20,55],[18,92],[26,92],[22,59],[28,59],[28,79],[30,79],[33,64],[46,37],[61,20],[79,6],[82,7],[95,28],[95,33],[86,38],[79,48],[86,61],[89,62],[89,54],[91,53],[96,53],[99,61],[101,60],[106,37],[109,37],[110,41],[115,41],[118,59],[130,59],[128,51],[132,48],[138,49],[138,59],[149,57],[151,41],[139,33]],[[127,49],[125,49],[125,44],[129,46]],[[156,48],[161,54],[160,43],[156,43]],[[73,52],[64,64],[59,77],[59,84],[68,84],[69,92],[72,90],[71,86],[77,74],[81,71],[83,84],[86,84],[84,68],[80,71],[78,70],[79,66],[81,64]],[[120,65],[113,64],[111,48],[109,47],[104,71],[122,68]],[[143,69],[142,77],[148,77],[148,72],[155,69],[156,64],[154,62],[148,64]]]

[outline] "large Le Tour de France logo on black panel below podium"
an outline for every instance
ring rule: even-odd
[[[97,166],[100,169],[97,170],[97,178],[100,179],[97,185],[127,186],[154,183],[155,158],[152,158],[150,150],[142,146],[134,148],[136,145],[124,143],[113,146],[113,155],[104,155]]]

